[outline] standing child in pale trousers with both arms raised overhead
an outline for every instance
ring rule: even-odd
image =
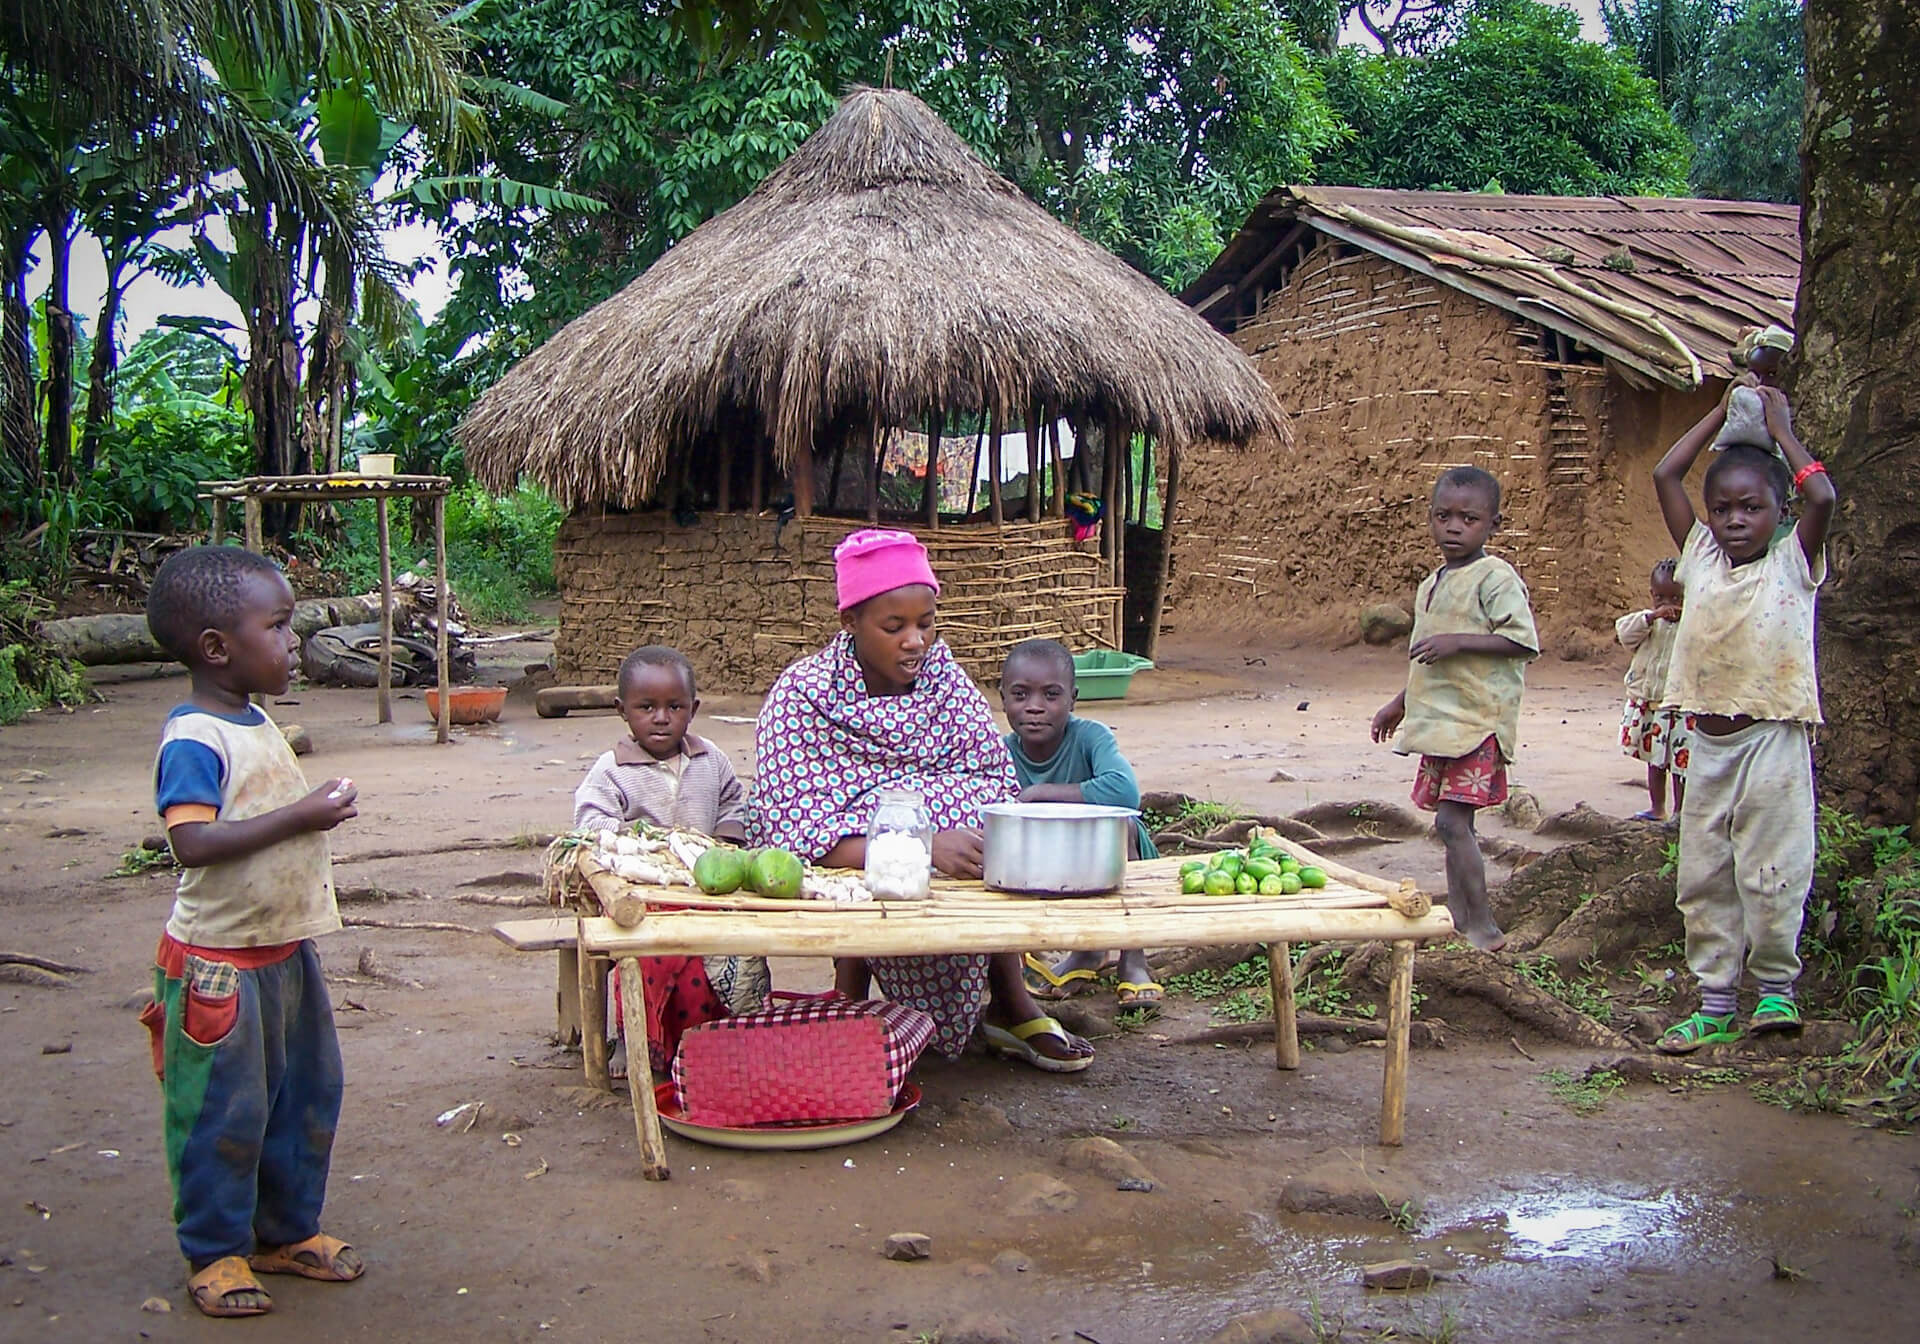
[[[1747,384],[1751,386],[1751,384]],[[1667,705],[1695,728],[1680,812],[1680,914],[1699,1010],[1659,1041],[1667,1054],[1734,1041],[1741,964],[1759,981],[1753,1031],[1793,1031],[1799,931],[1812,885],[1814,593],[1826,578],[1834,486],[1793,434],[1786,394],[1757,388],[1780,447],[1730,444],[1701,484],[1686,476],[1726,422],[1715,407],[1653,470],[1686,589]],[[1788,505],[1799,490],[1799,522]],[[1784,524],[1791,522],[1791,530]]]

